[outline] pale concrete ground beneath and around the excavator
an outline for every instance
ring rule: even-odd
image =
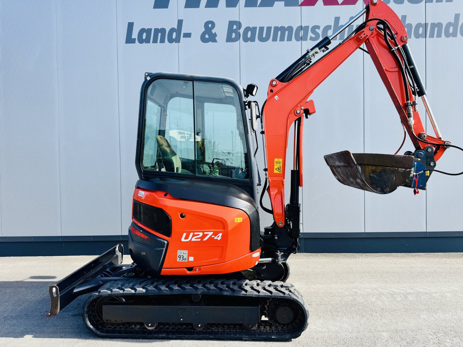
[[[47,286],[91,259],[0,258],[0,346],[237,345],[100,339],[81,319],[86,296],[45,320]],[[292,346],[463,346],[463,254],[296,254],[289,264],[289,281],[310,312],[307,330]]]

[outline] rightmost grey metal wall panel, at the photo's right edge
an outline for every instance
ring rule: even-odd
[[[429,34],[426,39],[426,72],[428,99],[445,140],[463,144],[463,3],[426,4]],[[442,30],[432,31],[432,23],[442,23]],[[428,133],[432,134],[430,122]],[[437,169],[457,173],[463,171],[462,153],[447,149]],[[427,230],[461,231],[463,176],[449,177],[434,173],[427,193]]]

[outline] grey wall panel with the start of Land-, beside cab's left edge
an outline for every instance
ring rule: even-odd
[[[142,28],[169,28],[177,24],[177,1],[167,9],[153,8],[153,1],[118,1],[119,124],[121,162],[122,233],[131,223],[132,193],[138,180],[135,170],[138,105],[145,72],[178,72],[176,43],[125,43],[127,26],[134,23],[133,37]],[[138,38],[138,37],[137,37]]]

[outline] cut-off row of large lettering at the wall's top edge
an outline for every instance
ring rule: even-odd
[[[240,0],[225,0],[225,7],[237,7]],[[439,2],[453,2],[453,0],[383,0],[385,4],[402,5],[421,4],[425,3],[439,3]],[[185,0],[184,8],[200,8],[201,0]],[[206,0],[204,8],[217,8],[219,7],[220,0]],[[297,6],[315,6],[317,3],[323,3],[324,6],[349,6],[357,5],[359,2],[368,4],[369,0],[244,0],[244,7],[273,7],[275,2],[283,2],[285,7]],[[170,0],[154,0],[153,8],[169,8]]]

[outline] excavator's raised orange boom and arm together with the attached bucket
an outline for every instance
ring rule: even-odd
[[[355,31],[313,63],[316,56],[329,49],[328,46],[334,37],[363,14],[366,20]],[[268,192],[275,222],[279,227],[286,223],[284,185],[289,130],[296,124],[299,134],[295,146],[298,148],[294,152],[297,152],[297,155],[294,156],[293,162],[293,169],[297,171],[294,176],[298,177],[298,182],[293,181],[291,185],[297,183],[302,186],[303,127],[299,124],[303,123],[304,117],[307,118],[315,112],[313,100],[309,98],[313,91],[363,44],[367,47],[369,56],[399,113],[400,121],[419,154],[416,158],[413,155],[352,155],[348,151],[326,155],[325,161],[336,178],[348,186],[380,194],[393,192],[398,186],[425,189],[425,182],[430,174],[426,173],[426,169],[435,165],[444,153],[445,145],[450,144],[440,137],[425,97],[424,85],[408,48],[408,34],[404,25],[395,12],[381,0],[370,0],[369,4],[343,28],[331,37],[322,39],[269,83],[263,124],[267,149]],[[372,98],[376,97],[374,93],[369,95]],[[423,98],[436,136],[425,133],[416,107],[418,97]],[[432,151],[433,157],[425,155],[429,151]],[[429,162],[421,158],[429,158]],[[420,171],[422,172],[419,173]],[[415,179],[415,174],[421,176]]]

